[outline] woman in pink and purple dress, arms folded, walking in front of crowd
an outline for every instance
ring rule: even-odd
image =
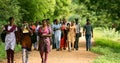
[[[47,63],[48,53],[50,52],[50,37],[52,36],[52,33],[46,20],[42,21],[42,26],[39,28],[38,33],[40,36],[38,50],[40,52],[42,63]]]

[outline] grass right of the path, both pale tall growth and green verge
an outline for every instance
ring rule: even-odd
[[[120,33],[114,29],[96,28],[94,37],[95,46],[91,51],[101,55],[94,63],[120,63]]]

